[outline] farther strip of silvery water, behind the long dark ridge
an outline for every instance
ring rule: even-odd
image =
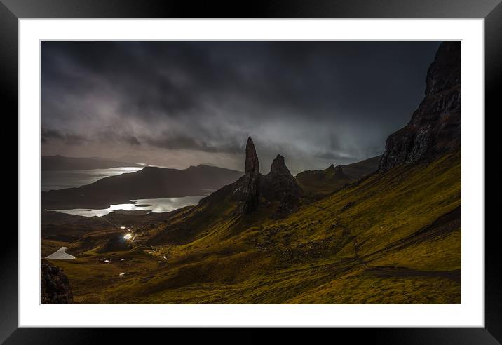
[[[142,167],[122,167],[92,170],[59,170],[41,172],[41,190],[64,189],[90,184],[104,177],[142,170]]]

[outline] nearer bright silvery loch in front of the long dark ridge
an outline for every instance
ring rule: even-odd
[[[92,210],[88,208],[74,208],[72,210],[55,210],[69,215],[81,215],[85,217],[101,217],[114,212],[115,210],[147,210],[154,213],[170,212],[177,208],[184,208],[189,205],[197,205],[204,196],[184,196],[182,198],[154,198],[131,200],[133,203],[120,203],[111,205],[103,210]]]

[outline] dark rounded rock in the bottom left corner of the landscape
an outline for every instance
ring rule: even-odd
[[[69,288],[68,277],[59,268],[47,260],[41,262],[40,273],[41,304],[71,304],[72,289]]]

